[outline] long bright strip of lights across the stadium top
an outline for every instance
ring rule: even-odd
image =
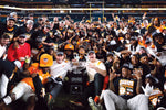
[[[17,7],[9,7],[9,6],[0,6],[1,9],[13,9],[13,10],[23,10],[23,11],[54,11],[54,10],[59,10],[59,11],[64,11],[64,10],[69,10],[69,11],[73,11],[73,10],[77,10],[77,11],[82,11],[82,10],[166,10],[166,8],[17,8]]]

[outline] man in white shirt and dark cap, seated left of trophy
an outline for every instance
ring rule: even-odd
[[[53,65],[50,67],[51,77],[49,78],[48,84],[49,94],[45,96],[48,107],[50,109],[52,108],[51,105],[54,102],[54,99],[63,86],[62,81],[64,80],[68,70],[71,69],[70,63],[64,61],[63,52],[58,52],[55,58],[56,59],[53,62]]]

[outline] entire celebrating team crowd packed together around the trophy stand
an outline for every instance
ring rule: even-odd
[[[52,106],[72,68],[86,68],[84,110],[166,110],[166,21],[134,16],[74,22],[11,12],[0,21],[0,110]],[[38,98],[38,100],[37,100]]]

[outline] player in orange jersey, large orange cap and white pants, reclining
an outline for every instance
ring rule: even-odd
[[[40,63],[33,63],[29,67],[29,73],[31,77],[22,79],[12,90],[11,94],[2,99],[0,102],[0,108],[6,107],[6,105],[22,98],[27,101],[27,110],[34,110],[35,106],[35,78],[39,77],[42,84],[46,82],[49,74],[49,67],[52,66],[53,58],[49,54],[43,54],[40,57]]]

